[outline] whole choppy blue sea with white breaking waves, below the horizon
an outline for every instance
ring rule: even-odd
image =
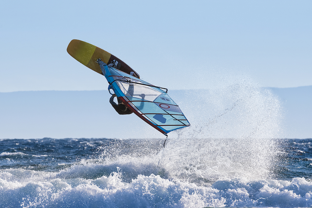
[[[312,139],[163,142],[2,139],[0,207],[312,206]]]

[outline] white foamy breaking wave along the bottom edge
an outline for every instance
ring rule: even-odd
[[[82,165],[75,165],[77,167]],[[100,171],[91,167],[89,172]],[[77,167],[72,167],[76,170]],[[115,167],[117,170],[117,167]],[[11,207],[307,207],[312,182],[281,180],[218,180],[211,186],[170,181],[159,175],[137,175],[123,181],[123,170],[95,179],[58,173],[8,169],[0,173],[1,206]],[[67,177],[59,177],[60,175]],[[76,171],[74,171],[76,172]],[[21,180],[20,175],[24,180]],[[30,177],[31,176],[31,177]],[[19,178],[19,180],[15,180]]]

